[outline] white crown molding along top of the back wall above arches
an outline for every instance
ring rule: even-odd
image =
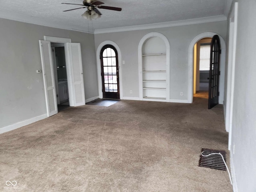
[[[94,30],[94,34],[143,30],[143,29],[152,29],[152,28],[164,28],[164,27],[192,25],[192,24],[208,23],[208,22],[215,22],[215,21],[226,21],[226,20],[227,20],[227,17],[225,15],[218,15],[218,16],[211,16],[211,17],[204,17],[204,18],[162,22],[162,23],[154,23],[154,24],[96,29]]]

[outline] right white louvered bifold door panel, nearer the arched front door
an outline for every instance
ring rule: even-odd
[[[74,97],[74,106],[85,104],[84,96],[84,78],[82,68],[82,57],[80,43],[67,43],[68,58],[70,62],[70,72],[72,78],[72,93]]]

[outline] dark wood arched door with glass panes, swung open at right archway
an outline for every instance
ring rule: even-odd
[[[220,54],[220,39],[218,35],[214,35],[212,38],[210,55],[208,109],[216,106],[219,100]]]

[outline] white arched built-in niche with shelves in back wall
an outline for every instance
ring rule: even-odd
[[[170,100],[170,45],[160,33],[142,38],[138,48],[140,100]]]

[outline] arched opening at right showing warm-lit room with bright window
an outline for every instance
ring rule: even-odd
[[[209,71],[211,37],[200,39],[194,45],[194,97],[209,98]]]

